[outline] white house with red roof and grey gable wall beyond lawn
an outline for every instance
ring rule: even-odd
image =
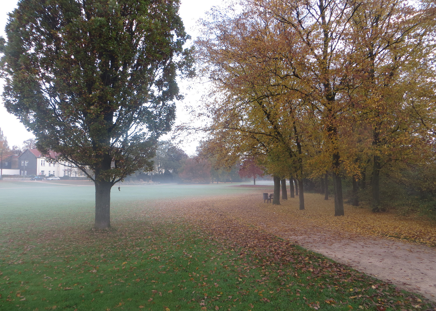
[[[18,165],[20,167],[20,175],[43,175],[43,176],[70,176],[82,177],[85,174],[74,165],[61,161],[52,163],[49,159],[56,159],[58,154],[54,151],[49,151],[43,155],[37,149],[26,149],[18,157]]]

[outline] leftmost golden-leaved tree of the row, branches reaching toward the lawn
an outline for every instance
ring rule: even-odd
[[[204,22],[205,36],[196,41],[198,58],[205,68],[203,74],[215,82],[213,92],[217,97],[208,110],[213,121],[204,130],[211,133],[211,140],[238,141],[239,136],[245,141],[250,137],[248,141],[253,143],[230,143],[235,149],[217,148],[221,153],[243,150],[245,146],[248,149],[239,155],[260,152],[272,158],[275,153],[286,154],[282,161],[290,159],[286,165],[292,169],[273,175],[280,180],[296,175],[303,191],[303,158],[307,155],[303,136],[308,130],[304,125],[313,123],[303,121],[309,116],[305,109],[309,103],[307,94],[300,92],[300,81],[283,62],[292,43],[283,44],[281,39],[292,37],[293,30],[283,29],[273,18],[249,6],[235,17],[218,12],[211,20]],[[268,163],[282,166],[280,162]],[[279,198],[278,193],[275,198]],[[303,207],[303,196],[300,199]]]

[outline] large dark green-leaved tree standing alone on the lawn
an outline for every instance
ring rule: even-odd
[[[151,167],[174,122],[176,76],[192,74],[178,8],[177,0],[21,0],[10,14],[5,107],[38,150],[60,155],[51,161],[94,181],[96,228],[110,226],[111,187]]]

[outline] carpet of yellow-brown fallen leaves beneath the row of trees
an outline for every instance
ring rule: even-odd
[[[294,224],[294,227],[300,229],[317,227],[436,246],[436,223],[423,217],[399,216],[395,212],[373,213],[367,207],[348,204],[344,205],[345,216],[335,217],[333,198],[325,201],[324,195],[306,193],[306,209],[300,211],[298,197],[290,198],[288,195],[288,200],[281,200],[280,205],[272,205],[263,203],[261,192],[259,190],[257,195],[244,195],[242,204],[221,204],[219,208],[235,217],[250,219],[252,223],[263,223],[269,227],[279,227],[281,223]],[[230,200],[234,202],[233,199]]]

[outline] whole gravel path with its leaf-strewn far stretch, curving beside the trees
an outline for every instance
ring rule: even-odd
[[[436,247],[334,231],[322,224],[317,226],[297,219],[289,221],[283,213],[274,212],[275,207],[271,204],[253,212],[253,205],[247,204],[254,201],[253,198],[257,199],[247,195],[242,200],[239,198],[238,202],[211,203],[215,210],[258,225],[311,251],[436,301]]]

